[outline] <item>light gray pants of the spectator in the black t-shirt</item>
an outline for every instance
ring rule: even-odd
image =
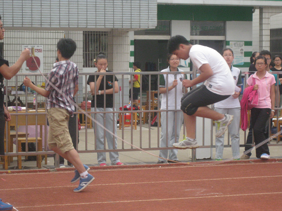
[[[95,111],[95,108],[91,108],[91,111]],[[97,108],[96,111],[104,111],[104,108]],[[106,108],[105,111],[113,111],[112,108]],[[107,114],[91,114],[91,117],[93,119],[96,119],[100,124],[104,126],[104,119],[105,119],[105,128],[111,131],[113,134],[117,134],[117,118],[115,118],[115,124],[113,127],[113,113],[107,113]],[[97,138],[97,149],[104,149],[104,133],[105,137],[108,143],[109,149],[117,149],[118,139],[114,137],[109,132],[105,131],[103,127],[96,124],[94,121],[92,121],[92,125],[94,126],[94,133],[95,133],[95,126],[97,126],[96,131],[96,138]],[[114,147],[113,147],[113,141],[114,141]],[[109,152],[111,164],[115,165],[116,163],[120,162],[119,160],[119,153],[118,152]],[[106,153],[105,152],[98,152],[97,153],[97,160],[98,164],[105,164],[106,163]]]

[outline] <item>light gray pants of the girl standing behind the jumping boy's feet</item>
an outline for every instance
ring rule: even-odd
[[[233,159],[240,158],[240,111],[241,108],[214,108],[220,114],[233,115],[233,121],[228,126],[228,131],[231,136],[231,148]],[[217,127],[215,127],[217,131]],[[215,158],[222,159],[224,148],[224,134],[221,137],[215,138]]]

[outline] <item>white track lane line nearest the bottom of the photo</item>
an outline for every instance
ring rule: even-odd
[[[201,198],[218,198],[218,197],[236,197],[236,196],[256,196],[256,195],[270,195],[270,194],[282,194],[282,192],[273,193],[246,193],[246,194],[233,194],[233,195],[221,195],[221,196],[199,196],[199,197],[183,197],[183,198],[165,198],[165,199],[144,199],[144,200],[130,200],[130,201],[111,201],[111,202],[89,202],[89,203],[77,203],[77,204],[56,204],[56,205],[39,205],[39,206],[26,206],[18,208],[44,208],[44,207],[57,207],[57,206],[74,206],[74,205],[91,205],[91,204],[111,204],[111,203],[132,203],[132,202],[152,202],[152,201],[171,201],[171,200],[184,200],[184,199],[201,199]]]

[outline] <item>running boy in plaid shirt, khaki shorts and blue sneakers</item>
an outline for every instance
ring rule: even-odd
[[[77,45],[72,39],[59,40],[57,43],[59,62],[54,64],[54,68],[48,74],[45,89],[33,85],[28,77],[25,78],[24,84],[38,94],[48,97],[47,113],[50,125],[48,146],[76,167],[75,177],[71,183],[80,179],[78,188],[74,189],[75,192],[80,192],[94,180],[94,177],[87,172],[90,168],[82,164],[68,128],[69,117],[75,111],[75,106],[71,102],[74,102],[74,96],[78,91],[77,65],[69,60],[76,48]],[[57,92],[52,85],[57,87],[61,93]]]

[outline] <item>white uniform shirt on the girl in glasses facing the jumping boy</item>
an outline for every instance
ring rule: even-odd
[[[167,69],[161,70],[161,72],[170,72],[171,70],[169,67]],[[183,72],[183,70],[179,70],[180,72]],[[171,86],[173,84],[173,81],[176,79],[178,80],[178,85],[169,91],[168,93],[161,94],[162,99],[161,99],[161,106],[160,109],[163,110],[174,110],[175,109],[175,89],[177,92],[176,95],[176,109],[180,109],[181,106],[181,98],[183,96],[183,86],[182,86],[182,81],[186,79],[185,74],[163,74],[160,75],[159,78],[159,87],[167,87]],[[168,96],[168,97],[167,97]],[[168,108],[166,107],[166,102],[168,98]]]

